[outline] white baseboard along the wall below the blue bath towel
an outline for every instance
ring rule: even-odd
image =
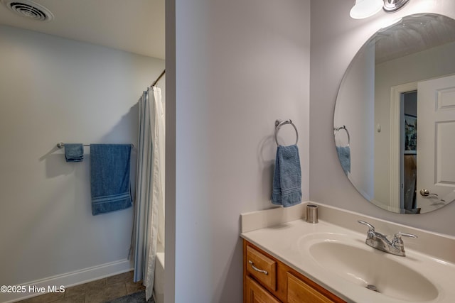
[[[27,299],[30,297],[36,297],[40,294],[45,294],[49,291],[52,291],[52,287],[55,287],[57,291],[60,291],[60,286],[65,288],[84,284],[87,282],[95,281],[102,279],[104,277],[109,277],[112,275],[117,275],[122,272],[129,272],[132,270],[132,263],[130,260],[118,260],[111,263],[105,263],[102,265],[93,266],[91,268],[85,268],[82,270],[76,270],[73,272],[67,272],[63,275],[55,275],[53,277],[46,277],[41,280],[36,280],[32,282],[27,282],[21,284],[21,287],[26,290],[26,292],[1,292],[0,293],[0,302],[2,303],[11,303],[16,302],[22,299]],[[44,292],[41,292],[42,287],[44,287]],[[36,292],[29,292],[30,288],[34,288]]]

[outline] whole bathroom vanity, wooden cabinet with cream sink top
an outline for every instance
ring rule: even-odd
[[[455,238],[319,204],[319,223],[306,204],[242,214],[244,303],[451,303]],[[405,238],[406,256],[365,243],[376,231]],[[390,236],[389,236],[390,238]]]

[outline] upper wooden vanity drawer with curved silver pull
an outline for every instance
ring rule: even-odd
[[[247,272],[271,290],[277,290],[277,262],[247,246]]]

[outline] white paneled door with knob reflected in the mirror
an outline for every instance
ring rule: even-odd
[[[455,199],[455,75],[419,82],[417,90],[417,190],[424,194],[416,196],[427,212]]]

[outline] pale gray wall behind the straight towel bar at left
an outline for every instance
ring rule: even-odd
[[[67,163],[55,145],[137,145],[137,101],[164,60],[7,26],[0,53],[0,285],[129,270],[132,208],[92,216],[90,149]]]

